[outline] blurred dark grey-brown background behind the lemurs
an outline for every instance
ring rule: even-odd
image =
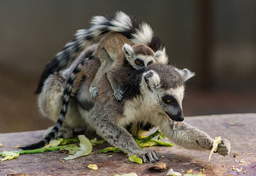
[[[165,42],[170,62],[196,72],[185,116],[256,113],[256,1],[0,1],[0,133],[54,123],[37,107],[45,65],[91,16],[123,11]]]

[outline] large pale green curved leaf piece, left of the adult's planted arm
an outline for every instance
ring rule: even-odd
[[[78,138],[80,140],[80,148],[78,148],[79,150],[74,155],[68,155],[68,157],[65,157],[64,160],[73,160],[74,158],[88,155],[93,150],[93,146],[88,138],[86,138],[84,135],[79,135]]]

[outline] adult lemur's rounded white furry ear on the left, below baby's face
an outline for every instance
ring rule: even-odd
[[[150,91],[160,85],[160,77],[153,70],[144,73],[143,79]]]

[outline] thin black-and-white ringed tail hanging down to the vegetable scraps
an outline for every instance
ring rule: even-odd
[[[87,59],[83,60],[81,63],[78,63],[78,65],[73,70],[70,77],[68,78],[67,84],[66,84],[67,86],[64,89],[63,105],[61,107],[60,116],[58,117],[58,121],[55,124],[55,126],[52,128],[50,133],[48,133],[48,135],[43,140],[41,140],[35,144],[31,144],[26,147],[19,147],[19,148],[21,148],[22,150],[32,150],[32,149],[36,149],[36,148],[42,148],[46,144],[48,144],[52,139],[54,139],[55,136],[57,136],[58,131],[63,126],[63,121],[65,120],[65,114],[67,113],[68,103],[70,101],[70,94],[71,94],[71,89],[72,89],[74,80],[76,79],[77,73],[81,71],[81,67],[84,66],[84,63],[86,61],[87,61]]]

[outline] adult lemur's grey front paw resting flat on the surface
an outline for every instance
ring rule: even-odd
[[[156,161],[160,160],[160,156],[156,153],[155,150],[142,149],[135,155],[142,158],[143,163],[156,163]]]

